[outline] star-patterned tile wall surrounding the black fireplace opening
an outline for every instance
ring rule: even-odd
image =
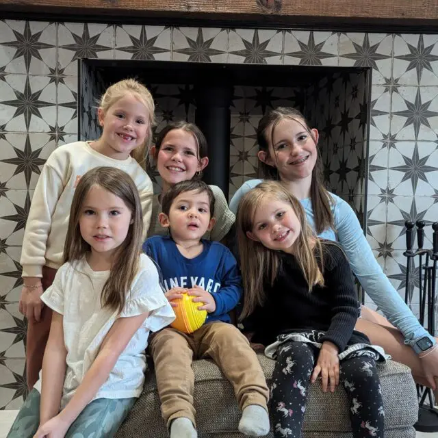
[[[367,239],[391,282],[404,294],[404,220],[425,220],[430,246],[430,223],[438,219],[438,34],[0,21],[1,409],[17,409],[26,395],[26,324],[18,312],[22,284],[18,261],[41,166],[55,147],[79,134],[81,58],[371,68],[368,138],[350,169],[368,157],[364,167],[368,180],[363,178],[366,187],[358,192],[366,205]],[[247,91],[235,90],[235,101],[244,106],[237,102],[231,123],[231,192],[257,168],[254,128],[261,113],[253,111],[252,100],[257,99],[250,99],[257,91]],[[289,91],[296,95],[296,90]],[[352,89],[344,92],[348,108],[352,94]],[[272,95],[278,96],[274,91]],[[165,111],[160,123],[168,117]],[[348,112],[346,118],[356,115]],[[89,116],[94,120],[93,114]],[[361,128],[359,119],[351,123]],[[335,122],[323,124],[324,132],[331,124]],[[341,146],[342,159],[339,148],[332,157],[336,175],[345,173],[337,170],[344,166],[346,154],[350,159],[346,138]],[[357,178],[347,175],[341,193],[342,187],[350,188],[362,176]],[[415,313],[417,286],[415,281],[410,284]]]

